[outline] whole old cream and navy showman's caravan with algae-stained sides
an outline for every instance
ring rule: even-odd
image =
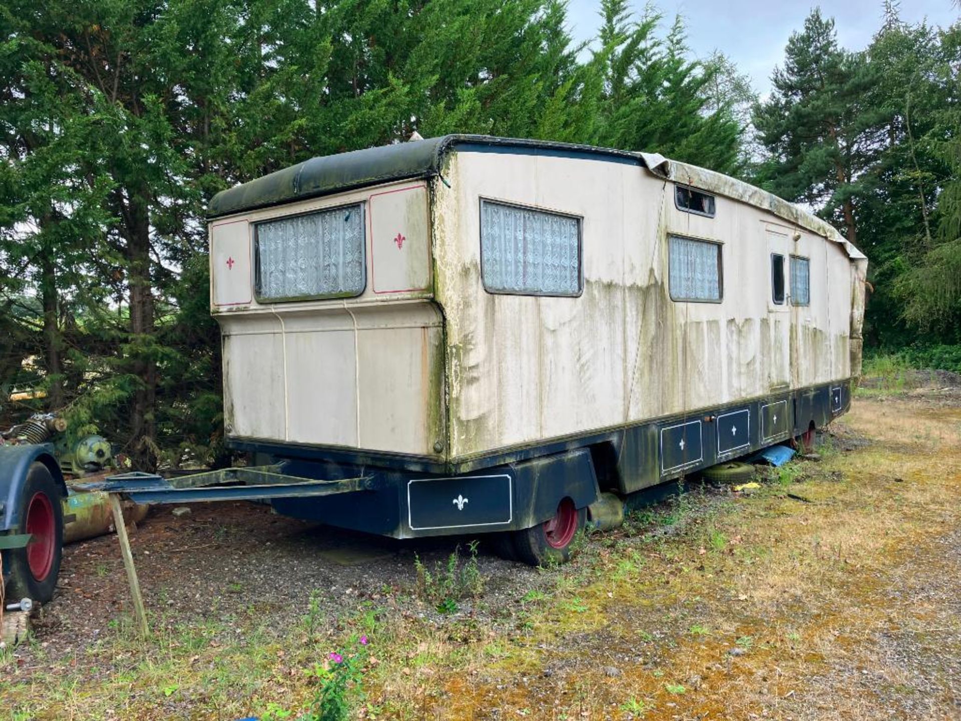
[[[332,485],[265,497],[337,527],[565,559],[603,495],[810,435],[860,372],[865,257],[658,155],[315,158],[217,194],[209,241],[228,443]]]

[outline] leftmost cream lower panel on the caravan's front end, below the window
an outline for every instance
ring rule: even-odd
[[[221,319],[227,435],[283,440],[283,336],[274,317]]]

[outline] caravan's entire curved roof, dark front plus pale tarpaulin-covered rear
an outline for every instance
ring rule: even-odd
[[[222,190],[210,200],[208,217],[217,218],[237,212],[254,211],[364,186],[376,186],[413,178],[430,178],[440,174],[445,155],[458,147],[461,150],[483,148],[487,151],[503,150],[504,152],[510,152],[511,148],[515,148],[521,149],[526,154],[590,157],[609,162],[640,165],[658,177],[698,187],[772,212],[818,236],[843,245],[851,259],[865,258],[837,230],[814,213],[788,203],[766,190],[722,173],[686,162],[671,161],[656,153],[631,153],[591,145],[513,137],[471,135],[431,137],[426,140],[411,140],[377,148],[355,150],[350,153],[312,158],[249,183]]]

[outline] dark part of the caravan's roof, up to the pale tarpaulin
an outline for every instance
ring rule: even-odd
[[[638,153],[596,148],[591,145],[513,137],[469,135],[431,137],[426,140],[412,140],[312,158],[309,161],[291,165],[249,183],[221,190],[210,200],[207,215],[209,218],[218,218],[237,212],[256,211],[283,203],[346,192],[358,187],[377,186],[413,178],[429,178],[440,172],[444,156],[456,145],[488,146],[504,150],[517,148],[527,152],[548,151],[558,155],[591,155],[598,156],[599,160],[645,164]]]

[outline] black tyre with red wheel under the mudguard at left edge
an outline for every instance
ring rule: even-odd
[[[23,492],[16,499],[20,525],[12,533],[34,537],[26,548],[4,552],[10,569],[6,596],[12,602],[29,598],[46,603],[54,595],[63,554],[62,492],[50,470],[35,462],[27,472]]]

